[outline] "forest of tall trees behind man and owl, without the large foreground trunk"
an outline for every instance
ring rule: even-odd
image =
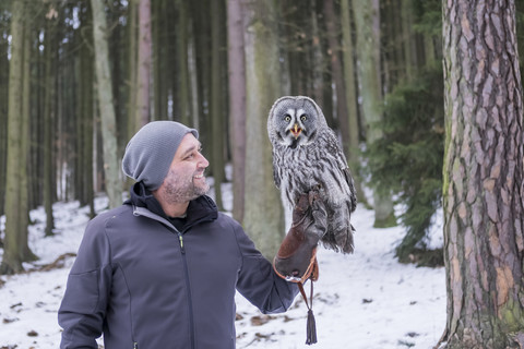
[[[519,3],[516,19],[524,47]],[[374,226],[407,228],[400,261],[442,264],[425,240],[442,207],[442,59],[440,0],[1,0],[0,270],[35,257],[31,209],[50,236],[57,201],[119,205],[123,149],[152,120],[200,130],[210,176],[233,180],[233,214],[271,256],[285,217],[266,118],[283,95],[323,109]]]

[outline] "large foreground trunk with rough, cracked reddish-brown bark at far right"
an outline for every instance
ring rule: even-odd
[[[444,348],[524,346],[524,132],[515,3],[443,1]]]

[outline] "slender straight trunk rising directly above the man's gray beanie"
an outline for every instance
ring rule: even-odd
[[[135,124],[150,121],[151,1],[139,0],[139,60],[136,64]]]

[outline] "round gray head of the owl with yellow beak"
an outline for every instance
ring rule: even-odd
[[[286,96],[278,98],[271,108],[267,133],[272,143],[296,148],[313,142],[325,125],[324,115],[314,100]]]

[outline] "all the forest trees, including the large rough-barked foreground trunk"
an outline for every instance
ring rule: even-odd
[[[121,204],[123,149],[151,120],[199,129],[218,208],[233,181],[271,258],[286,217],[267,113],[307,95],[373,226],[405,227],[398,261],[445,265],[441,348],[524,348],[519,47],[522,0],[0,0],[0,274],[36,258],[33,208],[52,236],[53,203]]]

